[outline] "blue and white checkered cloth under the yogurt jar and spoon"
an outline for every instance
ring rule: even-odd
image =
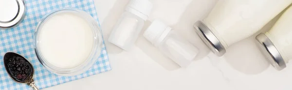
[[[0,59],[6,52],[16,52],[32,62],[35,69],[35,82],[39,89],[55,86],[79,78],[111,70],[106,47],[96,64],[86,73],[76,76],[59,76],[50,73],[37,60],[34,50],[34,31],[41,18],[50,12],[62,8],[78,8],[88,12],[98,21],[93,0],[25,0],[26,17],[15,28],[0,30]],[[14,82],[5,71],[3,60],[0,60],[0,90],[31,90],[26,84]]]

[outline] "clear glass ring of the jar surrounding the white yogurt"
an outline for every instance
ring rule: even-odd
[[[73,67],[73,68],[58,68],[49,63],[43,56],[41,51],[39,50],[38,46],[38,37],[39,37],[39,30],[41,30],[42,26],[45,24],[46,20],[50,19],[50,17],[61,14],[61,13],[73,13],[75,15],[78,15],[88,21],[89,24],[91,24],[91,29],[93,31],[93,47],[91,50],[90,56],[85,60],[83,63],[80,65]],[[48,69],[50,72],[55,73],[56,75],[64,75],[64,76],[72,76],[72,75],[78,75],[81,73],[84,73],[88,69],[91,68],[91,66],[98,60],[97,58],[99,57],[101,53],[101,47],[102,47],[102,35],[101,35],[101,30],[98,25],[98,23],[95,21],[95,19],[87,14],[85,11],[75,9],[75,8],[67,8],[67,9],[61,9],[54,11],[46,16],[44,16],[41,21],[38,23],[36,31],[35,31],[35,51],[37,55],[37,59],[40,61],[40,63]]]

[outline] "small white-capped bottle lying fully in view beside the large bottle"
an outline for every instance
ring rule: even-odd
[[[187,67],[198,54],[197,47],[159,20],[152,22],[144,32],[144,37],[181,67]]]

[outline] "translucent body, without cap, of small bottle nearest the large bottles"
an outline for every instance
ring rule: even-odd
[[[173,31],[168,33],[164,41],[159,44],[158,48],[165,56],[181,67],[189,66],[199,53],[197,47],[190,44]]]

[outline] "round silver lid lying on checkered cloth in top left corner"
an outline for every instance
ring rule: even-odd
[[[11,28],[22,21],[25,15],[23,0],[0,0],[0,28]]]

